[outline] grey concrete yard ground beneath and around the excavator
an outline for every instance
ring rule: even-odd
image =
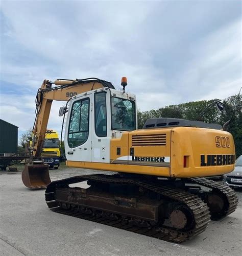
[[[52,180],[90,173],[93,171],[64,166],[50,170]],[[53,213],[45,204],[44,191],[25,188],[20,172],[0,175],[0,255],[242,254],[241,190],[236,191],[239,205],[234,213],[211,221],[197,238],[174,244]]]

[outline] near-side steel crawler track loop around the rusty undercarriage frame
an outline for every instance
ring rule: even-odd
[[[153,227],[140,227],[128,222],[123,222],[120,220],[108,220],[100,217],[99,215],[88,215],[73,210],[74,207],[70,207],[69,210],[63,209],[60,206],[60,203],[55,200],[55,191],[61,188],[68,188],[68,184],[78,183],[81,181],[91,180],[94,182],[101,183],[110,183],[110,184],[132,184],[137,185],[140,188],[158,193],[161,197],[166,200],[179,202],[189,208],[193,219],[190,220],[193,223],[193,227],[187,231],[182,231],[179,229],[172,228],[170,226],[160,225]],[[70,188],[71,190],[71,188]],[[168,185],[162,184],[160,181],[149,181],[149,180],[140,180],[132,178],[121,178],[117,175],[86,175],[86,176],[76,176],[72,178],[67,178],[63,180],[53,181],[50,183],[45,192],[45,200],[48,207],[57,213],[70,215],[78,217],[85,220],[90,220],[98,222],[101,224],[125,229],[128,231],[135,232],[137,234],[146,235],[149,237],[154,237],[169,242],[181,243],[186,240],[189,240],[203,232],[209,221],[210,214],[207,204],[197,195],[190,194],[181,189],[170,187]],[[70,203],[71,204],[71,203]],[[75,206],[75,205],[73,205]]]

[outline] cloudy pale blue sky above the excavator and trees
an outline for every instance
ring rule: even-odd
[[[0,118],[32,127],[44,79],[98,77],[141,110],[237,94],[241,1],[1,1]],[[49,128],[60,131],[53,104]]]

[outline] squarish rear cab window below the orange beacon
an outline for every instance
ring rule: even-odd
[[[135,130],[134,101],[111,97],[112,129],[121,131]]]

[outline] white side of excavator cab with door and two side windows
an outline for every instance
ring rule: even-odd
[[[122,136],[124,131],[112,128],[114,112],[112,113],[111,107],[114,102],[111,102],[110,97],[135,102],[133,94],[109,88],[89,91],[71,100],[65,126],[67,160],[110,162],[110,140],[117,133]],[[116,116],[119,114],[116,113]],[[135,108],[135,119],[136,117]],[[137,119],[135,121],[137,126]]]

